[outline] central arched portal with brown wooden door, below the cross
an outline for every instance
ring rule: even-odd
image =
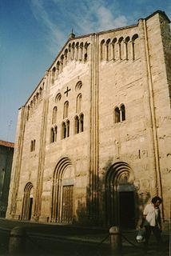
[[[73,215],[74,167],[70,158],[62,158],[54,170],[51,222],[71,223]]]

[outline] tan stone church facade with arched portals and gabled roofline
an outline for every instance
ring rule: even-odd
[[[135,228],[159,195],[167,226],[169,22],[70,34],[19,110],[6,218]]]

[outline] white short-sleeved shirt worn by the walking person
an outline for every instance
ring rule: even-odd
[[[155,208],[153,204],[149,204],[145,206],[143,214],[146,215],[145,226],[157,226],[160,215],[159,208]]]

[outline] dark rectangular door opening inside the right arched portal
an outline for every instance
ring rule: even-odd
[[[121,228],[135,228],[135,202],[133,191],[119,192],[119,223]]]

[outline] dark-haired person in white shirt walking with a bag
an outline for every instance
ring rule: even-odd
[[[145,226],[145,248],[149,244],[149,237],[153,232],[155,238],[157,239],[157,245],[159,248],[162,246],[163,242],[161,239],[161,211],[160,211],[160,204],[162,200],[158,196],[152,198],[150,204],[145,206],[143,212],[143,218],[140,227],[142,228]]]

